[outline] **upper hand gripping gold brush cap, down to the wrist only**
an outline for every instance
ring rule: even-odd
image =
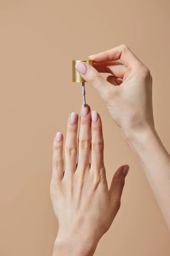
[[[152,76],[148,68],[125,45],[89,58],[94,60],[94,67],[79,62],[77,71],[102,97],[125,136],[130,139],[135,131],[153,129]],[[112,75],[105,80],[99,73]]]

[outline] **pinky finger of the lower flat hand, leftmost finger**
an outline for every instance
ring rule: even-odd
[[[61,181],[63,177],[64,161],[62,156],[62,148],[63,136],[61,132],[57,132],[53,142],[53,173],[51,181],[54,183]]]

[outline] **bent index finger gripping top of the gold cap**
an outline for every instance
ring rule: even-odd
[[[105,52],[91,55],[89,58],[93,59],[97,63],[120,60],[125,67],[134,66],[136,63],[141,62],[139,58],[137,58],[136,55],[129,49],[129,47],[124,44],[113,49],[109,49]]]

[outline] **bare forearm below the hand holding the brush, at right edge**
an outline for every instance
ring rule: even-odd
[[[153,129],[135,132],[130,147],[141,163],[170,229],[170,155]]]

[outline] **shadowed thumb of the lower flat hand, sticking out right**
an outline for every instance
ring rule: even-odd
[[[119,169],[115,172],[111,182],[111,187],[109,189],[109,192],[113,201],[118,200],[120,202],[123,187],[125,185],[125,177],[128,171],[129,171],[129,166],[125,165],[125,166],[119,167]]]

